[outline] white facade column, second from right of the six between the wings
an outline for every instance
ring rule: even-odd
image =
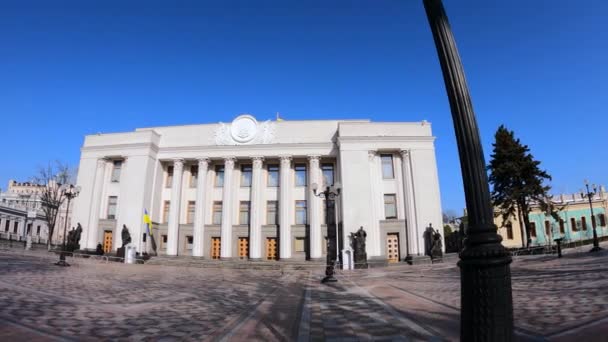
[[[291,258],[291,217],[289,215],[291,208],[294,206],[291,203],[291,156],[280,156],[281,158],[281,176],[280,176],[280,193],[279,193],[279,258]]]

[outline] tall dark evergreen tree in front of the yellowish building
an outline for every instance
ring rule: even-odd
[[[539,168],[540,162],[530,154],[527,145],[515,139],[513,131],[501,125],[494,137],[496,141],[492,145],[494,150],[488,165],[492,201],[500,210],[503,225],[519,212],[526,233],[526,246],[530,246],[530,205],[533,202],[545,205],[550,187],[543,182],[551,180],[551,176]]]

